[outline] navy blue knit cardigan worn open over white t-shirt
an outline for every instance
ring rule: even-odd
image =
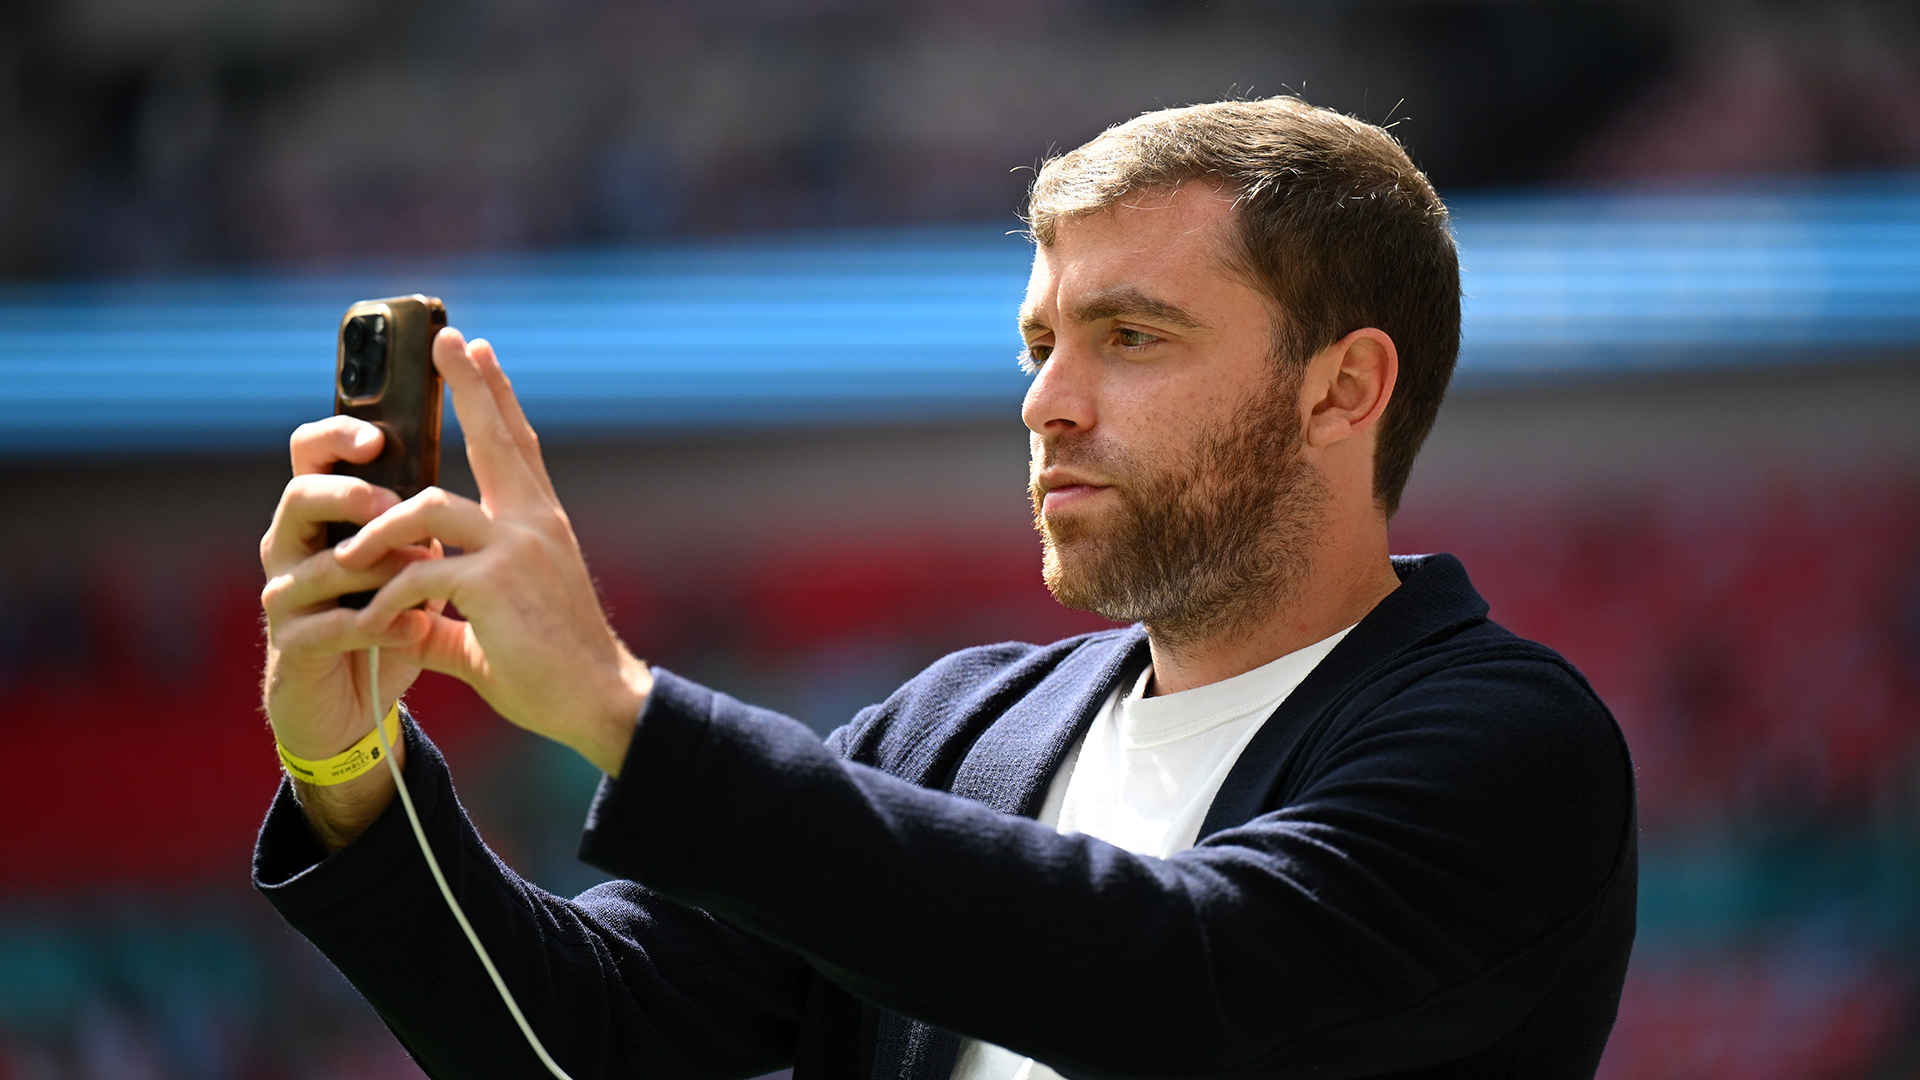
[[[1169,859],[1031,821],[1139,628],[948,655],[826,744],[660,671],[582,842],[624,880],[574,899],[486,849],[411,723],[407,788],[576,1080],[943,1080],[956,1032],[1073,1078],[1590,1078],[1634,936],[1626,744],[1455,559],[1396,567]],[[397,807],[323,859],[282,786],[253,874],[428,1074],[541,1074]]]

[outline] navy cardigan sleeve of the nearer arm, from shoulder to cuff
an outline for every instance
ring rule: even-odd
[[[582,855],[885,1009],[1089,1078],[1457,1059],[1632,888],[1624,744],[1555,665],[1444,669],[1306,753],[1284,807],[1154,859],[657,673]]]

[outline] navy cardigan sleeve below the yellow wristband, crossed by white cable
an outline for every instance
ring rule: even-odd
[[[411,723],[407,790],[453,894],[568,1074],[756,1076],[793,1061],[810,969],[632,880],[566,899],[507,869]],[[430,1076],[543,1076],[392,807],[323,857],[282,782],[253,884],[365,994]]]

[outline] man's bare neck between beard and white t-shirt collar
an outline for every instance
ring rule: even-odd
[[[1233,678],[1359,623],[1400,588],[1400,575],[1386,555],[1384,530],[1379,544],[1367,548],[1365,555],[1348,552],[1346,557],[1315,559],[1308,578],[1275,605],[1269,617],[1254,625],[1177,646],[1158,640],[1148,626],[1154,678],[1146,692],[1179,694]]]

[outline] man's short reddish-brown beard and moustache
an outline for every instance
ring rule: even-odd
[[[1290,367],[1290,365],[1288,365]],[[1302,454],[1300,371],[1277,371],[1187,459],[1125,454],[1071,436],[1044,465],[1083,465],[1119,496],[1117,521],[1052,525],[1031,488],[1043,575],[1060,603],[1146,623],[1173,648],[1258,623],[1306,577],[1327,484]]]

